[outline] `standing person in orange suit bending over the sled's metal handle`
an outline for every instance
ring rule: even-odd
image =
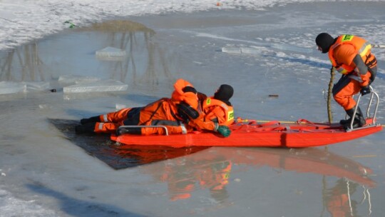
[[[366,124],[364,115],[359,107],[353,117],[356,101],[354,94],[369,94],[370,84],[374,81],[377,72],[376,56],[371,53],[371,44],[365,39],[354,35],[341,35],[333,38],[327,33],[321,33],[315,39],[318,50],[322,54],[329,52],[329,59],[339,73],[341,79],[333,86],[333,97],[344,108],[349,118],[340,123],[346,128],[354,118],[353,128]]]

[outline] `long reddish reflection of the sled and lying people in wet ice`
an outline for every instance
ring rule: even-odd
[[[119,156],[125,156],[124,150],[127,150],[125,148],[128,148],[128,146],[119,147],[119,151],[116,153]],[[140,151],[139,146],[136,148],[138,148],[137,151],[130,151],[130,154],[126,156],[137,156],[136,158],[142,159],[143,163],[158,160],[153,156],[163,156],[159,153],[164,152],[161,147],[158,149],[152,147],[150,152]],[[337,177],[344,183],[344,185],[341,185],[340,181],[337,181],[337,185],[334,187],[325,184],[325,191],[327,191],[326,188],[333,188],[346,192],[347,184],[356,187],[361,185],[366,187],[376,186],[376,183],[367,177],[372,173],[370,168],[351,161],[349,158],[338,156],[329,151],[321,151],[317,148],[289,150],[285,148],[215,147],[202,149],[199,153],[173,158],[141,168],[144,173],[153,176],[156,182],[167,183],[171,201],[187,199],[195,191],[207,189],[216,203],[226,203],[227,198],[230,196],[229,192],[227,192],[227,185],[232,182],[242,183],[241,179],[236,178],[237,172],[263,167],[272,168],[279,173],[295,171],[297,173],[318,174],[324,178]],[[366,187],[364,188],[366,189]],[[352,196],[355,191],[351,190],[349,192]],[[322,197],[324,200],[330,201],[328,198],[330,198],[331,194],[333,195],[332,192],[329,192],[327,195],[322,195]],[[335,193],[334,196],[336,196]]]

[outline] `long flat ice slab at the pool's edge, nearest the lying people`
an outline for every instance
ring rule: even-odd
[[[109,91],[127,91],[128,84],[124,84],[121,81],[107,80],[107,81],[95,81],[85,84],[75,84],[71,86],[63,87],[65,94],[70,93],[87,93],[87,92],[109,92]]]

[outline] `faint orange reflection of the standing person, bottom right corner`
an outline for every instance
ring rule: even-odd
[[[344,178],[340,178],[336,186],[327,189],[327,193],[324,196],[327,211],[329,211],[332,217],[343,216],[356,216],[356,201],[351,201],[349,194],[353,194],[356,191],[357,184],[349,184],[347,187],[347,181]]]

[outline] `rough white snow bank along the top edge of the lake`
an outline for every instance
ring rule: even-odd
[[[220,6],[217,6],[217,2],[221,3]],[[68,28],[69,24],[65,24],[66,21],[82,26],[111,16],[192,13],[223,9],[264,10],[272,6],[304,2],[313,0],[3,0],[0,2],[0,49],[14,48],[48,34],[57,33]]]

